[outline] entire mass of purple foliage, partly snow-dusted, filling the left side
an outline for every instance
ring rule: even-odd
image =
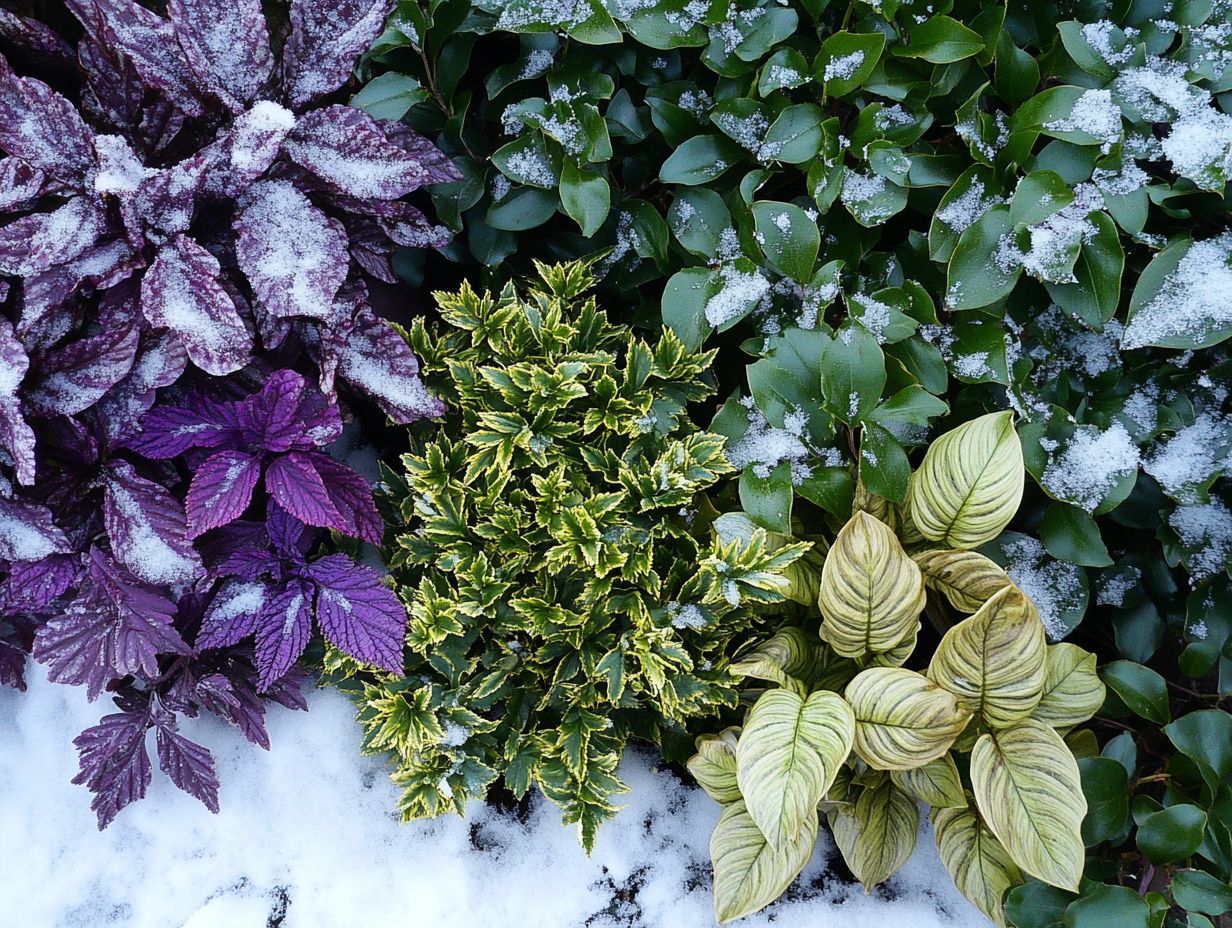
[[[150,781],[150,730],[216,808],[182,718],[267,747],[314,629],[400,672],[393,593],[310,556],[322,529],[382,534],[326,451],[347,403],[444,410],[368,287],[447,242],[407,197],[457,173],[344,102],[393,0],[292,0],[272,28],[259,0],[67,6],[75,47],[0,16],[0,683],[32,652],[112,694],[76,742],[102,827]]]

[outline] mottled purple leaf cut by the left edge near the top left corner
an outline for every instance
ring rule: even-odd
[[[0,150],[81,187],[92,133],[76,107],[34,78],[18,78],[0,55]]]

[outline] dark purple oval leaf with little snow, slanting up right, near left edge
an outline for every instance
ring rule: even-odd
[[[103,329],[48,354],[26,394],[43,415],[76,415],[128,376],[140,341],[137,327]]]

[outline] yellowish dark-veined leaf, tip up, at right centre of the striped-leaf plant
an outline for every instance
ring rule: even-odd
[[[936,646],[928,677],[993,728],[1026,718],[1044,693],[1044,625],[1018,587],[1007,587]]]

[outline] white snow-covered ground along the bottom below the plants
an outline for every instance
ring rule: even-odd
[[[350,704],[317,691],[272,711],[265,753],[222,723],[187,721],[214,752],[222,813],[155,769],[145,800],[95,827],[71,738],[110,710],[31,668],[0,690],[0,912],[14,928],[710,928],[717,806],[652,758],[626,759],[627,808],[593,858],[556,810],[489,808],[400,826],[382,763],[359,755]],[[153,747],[153,746],[152,746]],[[150,752],[153,757],[153,751]],[[823,838],[787,898],[738,924],[987,928],[951,886],[931,834],[873,896],[828,877]],[[622,901],[623,900],[623,901]],[[281,917],[281,921],[280,921]]]

